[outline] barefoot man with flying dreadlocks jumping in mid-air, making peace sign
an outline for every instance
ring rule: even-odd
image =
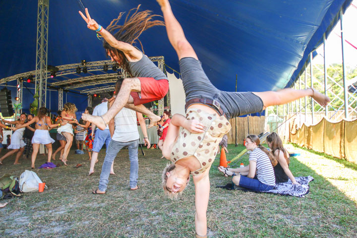
[[[137,40],[143,50],[142,44],[138,39],[141,33],[150,27],[163,26],[165,24],[163,21],[153,20],[152,18],[158,15],[152,15],[149,10],[138,12],[139,6],[128,12],[123,25],[118,25],[120,18],[124,14],[124,12],[121,12],[118,18],[114,19],[107,29],[104,29],[90,17],[87,8],[85,8],[86,16],[79,11],[79,14],[87,22],[87,27],[96,31],[101,35],[100,37],[104,38],[103,46],[106,49],[107,55],[132,77],[124,79],[118,94],[120,96],[116,98],[113,106],[106,114],[101,117],[82,114],[82,119],[96,124],[100,129],[105,129],[109,121],[123,107],[147,115],[150,119],[149,127],[161,119],[142,104],[165,97],[169,91],[168,78],[164,72],[149,60],[143,52],[134,47],[133,44]],[[130,16],[132,10],[134,10],[134,13]]]

